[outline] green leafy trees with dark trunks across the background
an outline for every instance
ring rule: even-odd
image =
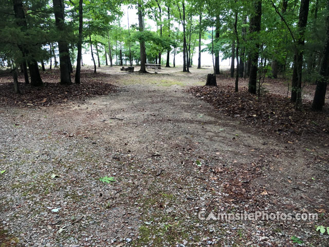
[[[137,14],[138,23],[126,16],[128,25],[121,24],[126,9]],[[145,63],[176,66],[179,53],[183,72],[189,72],[194,63],[201,67],[207,51],[213,74],[221,73],[220,55],[231,59],[236,91],[241,77],[249,77],[248,91],[259,94],[265,77],[284,76],[291,79],[296,110],[305,83],[317,84],[313,110],[324,105],[329,1],[2,0],[0,12],[0,65],[10,68],[16,93],[18,68],[32,86],[43,85],[39,66],[60,66],[61,84],[79,84],[86,52],[96,73],[104,63],[140,65],[140,72],[146,72]]]

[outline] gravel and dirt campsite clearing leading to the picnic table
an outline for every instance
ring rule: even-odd
[[[103,83],[95,97],[64,89],[54,103],[2,101],[0,246],[328,246],[316,231],[329,226],[327,109],[322,129],[267,131],[270,121],[252,123],[221,108],[214,90],[191,87],[210,67],[180,70],[85,70]],[[233,80],[217,83],[228,92]],[[283,83],[267,89],[286,94]]]

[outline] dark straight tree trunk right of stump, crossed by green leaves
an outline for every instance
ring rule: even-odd
[[[255,15],[250,19],[250,32],[252,34],[258,33],[261,30],[262,17],[262,0],[255,0]],[[258,56],[259,56],[259,42],[255,45],[255,50],[250,52],[250,72],[248,92],[256,94],[257,91],[257,71],[258,71]]]

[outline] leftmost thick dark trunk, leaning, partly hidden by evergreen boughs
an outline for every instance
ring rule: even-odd
[[[27,23],[25,19],[25,12],[23,9],[23,2],[22,0],[13,0],[13,6],[14,6],[14,16],[16,19],[17,26],[21,27],[23,31],[27,31]],[[20,50],[22,51],[23,56],[29,56],[30,52],[27,48],[20,46]],[[27,61],[27,64],[29,66],[30,71],[30,77],[31,77],[31,85],[32,86],[42,86],[43,82],[40,76],[38,63],[35,61],[34,58],[29,59]],[[26,81],[26,80],[25,80]]]

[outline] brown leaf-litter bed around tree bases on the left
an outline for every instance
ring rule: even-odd
[[[41,75],[43,87],[33,87],[24,83],[24,77],[19,77],[21,94],[13,92],[12,78],[0,78],[0,101],[2,105],[20,107],[48,107],[52,104],[87,97],[107,95],[116,91],[116,86],[104,82],[104,74],[94,74],[92,70],[81,71],[81,84],[61,85],[58,69],[47,70]],[[107,75],[108,77],[108,75]],[[74,82],[74,78],[72,78]]]

